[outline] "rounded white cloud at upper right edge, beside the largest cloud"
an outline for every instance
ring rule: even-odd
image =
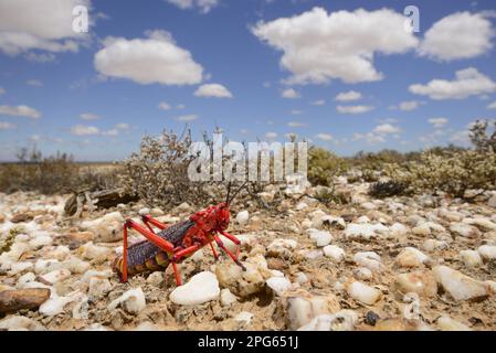
[[[419,46],[419,54],[434,60],[469,58],[488,52],[495,31],[481,13],[456,12],[435,22]]]

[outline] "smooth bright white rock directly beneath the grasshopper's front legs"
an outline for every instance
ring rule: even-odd
[[[170,293],[170,300],[180,306],[198,306],[219,298],[219,281],[210,271],[194,275]]]

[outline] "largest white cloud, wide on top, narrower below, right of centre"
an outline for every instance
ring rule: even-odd
[[[346,83],[382,78],[373,56],[400,54],[418,45],[404,31],[404,17],[389,9],[327,13],[314,8],[292,18],[258,22],[252,32],[268,45],[283,51],[281,66],[291,84],[325,84],[339,78]]]

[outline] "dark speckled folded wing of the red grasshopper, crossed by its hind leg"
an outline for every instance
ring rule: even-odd
[[[170,227],[160,231],[159,233],[157,233],[157,235],[172,243],[172,245],[176,247],[181,244],[181,240],[184,237],[186,233],[193,225],[194,222],[190,220],[179,222],[171,225]],[[148,240],[133,244],[127,250],[127,266],[133,267],[136,265],[143,265],[147,259],[155,257],[159,252],[161,252],[160,248]]]

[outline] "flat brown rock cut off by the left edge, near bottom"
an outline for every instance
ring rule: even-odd
[[[0,313],[36,309],[50,298],[50,289],[15,289],[0,291]]]

